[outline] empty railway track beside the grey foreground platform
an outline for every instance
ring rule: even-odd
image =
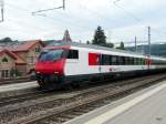
[[[114,99],[122,97],[143,86],[148,86],[166,78],[165,74],[149,75],[139,79],[101,85],[82,90],[70,97],[48,97],[46,101],[37,100],[33,104],[24,104],[18,108],[1,112],[1,123],[8,124],[50,124],[63,123],[95,107],[108,104]],[[56,96],[56,95],[55,95]],[[51,99],[51,100],[50,100]],[[53,100],[54,99],[54,100]]]

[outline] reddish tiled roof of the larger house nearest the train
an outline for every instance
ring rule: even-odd
[[[32,41],[25,41],[22,44],[18,45],[17,48],[12,48],[11,51],[13,51],[13,52],[29,51],[37,43],[41,43],[44,46],[44,44],[42,43],[41,40],[32,40]]]

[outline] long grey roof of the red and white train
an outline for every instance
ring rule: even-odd
[[[79,46],[79,48],[87,48],[87,49],[94,49],[94,50],[105,50],[105,51],[112,51],[112,52],[121,52],[121,53],[127,53],[127,54],[132,54],[132,55],[143,55],[143,56],[146,55],[146,54],[141,54],[141,53],[120,50],[120,49],[100,46],[100,45],[94,45],[94,44],[77,43],[77,42],[54,41],[49,46]],[[166,60],[166,58],[162,58],[162,56],[151,55],[151,58],[152,59]]]

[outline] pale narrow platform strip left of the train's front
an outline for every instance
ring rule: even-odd
[[[24,90],[31,87],[38,87],[37,81],[32,82],[24,82],[24,83],[14,83],[14,84],[4,84],[0,85],[0,93],[9,92],[9,91],[17,91],[17,90]]]

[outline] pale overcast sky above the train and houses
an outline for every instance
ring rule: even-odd
[[[0,39],[14,40],[62,39],[69,29],[73,41],[92,40],[101,25],[107,41],[128,42],[137,35],[147,41],[152,27],[152,42],[166,41],[166,0],[66,0],[65,10],[31,12],[62,6],[62,0],[3,0],[4,22],[0,23]]]

